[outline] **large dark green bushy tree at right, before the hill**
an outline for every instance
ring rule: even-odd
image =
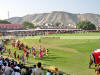
[[[84,30],[96,30],[96,26],[90,21],[80,21],[76,24],[76,27]]]

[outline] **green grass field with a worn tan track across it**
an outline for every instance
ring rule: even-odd
[[[42,36],[42,35],[41,35]],[[46,36],[100,36],[100,33],[77,33],[77,34],[49,34]],[[94,49],[100,48],[100,39],[42,39],[39,43],[38,39],[20,39],[29,47],[35,46],[38,52],[39,46],[49,49],[49,56],[42,59],[34,59],[32,54],[29,61],[32,64],[38,61],[45,66],[58,67],[60,71],[71,75],[94,75],[94,69],[88,69],[89,55]],[[11,48],[11,45],[7,45]],[[11,48],[12,53],[16,50]],[[23,51],[16,50],[17,54],[22,54]],[[7,55],[7,53],[5,53]]]

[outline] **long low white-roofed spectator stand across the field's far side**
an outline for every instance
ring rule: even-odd
[[[47,35],[56,33],[74,33],[81,31],[81,29],[23,29],[23,30],[6,30],[2,31],[2,36],[34,36],[34,35]]]

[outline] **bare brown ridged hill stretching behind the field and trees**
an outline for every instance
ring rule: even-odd
[[[14,24],[21,24],[23,21],[29,21],[34,24],[45,24],[45,23],[52,23],[55,24],[57,22],[68,25],[68,24],[76,24],[82,20],[89,20],[96,25],[100,25],[100,15],[92,14],[92,13],[85,13],[85,14],[73,14],[63,11],[53,11],[51,13],[39,13],[39,14],[32,14],[26,15],[23,17],[12,17],[7,19],[7,21],[14,23]]]

